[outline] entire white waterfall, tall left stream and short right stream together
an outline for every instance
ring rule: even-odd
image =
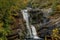
[[[24,20],[26,21],[26,25],[27,25],[27,29],[28,29],[28,33],[30,35],[30,37],[34,38],[34,39],[40,39],[38,36],[37,36],[37,32],[36,32],[36,29],[33,25],[29,25],[29,14],[27,12],[28,10],[22,10],[22,14],[23,14],[23,17],[24,17]]]

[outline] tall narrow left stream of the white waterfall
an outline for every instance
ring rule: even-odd
[[[27,29],[28,29],[28,34],[30,37],[32,37],[32,34],[31,34],[31,29],[30,29],[30,26],[29,26],[29,15],[27,13],[27,10],[21,10],[22,11],[22,14],[23,14],[23,18],[24,20],[26,21],[26,26],[27,26]]]

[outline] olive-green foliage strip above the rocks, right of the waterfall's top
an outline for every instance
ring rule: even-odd
[[[33,8],[49,8],[51,6],[55,8],[59,1],[60,0],[32,0],[31,4]]]

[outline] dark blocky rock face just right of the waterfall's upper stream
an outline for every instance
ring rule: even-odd
[[[40,22],[43,22],[43,12],[40,9],[32,9],[29,11],[30,14],[30,22],[32,24],[39,24]]]

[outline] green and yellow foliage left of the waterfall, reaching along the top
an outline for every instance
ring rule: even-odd
[[[20,10],[27,6],[27,0],[0,0],[0,21],[2,20],[3,26],[0,28],[0,40],[7,40],[6,35],[8,35],[10,31],[10,16],[11,11]]]

